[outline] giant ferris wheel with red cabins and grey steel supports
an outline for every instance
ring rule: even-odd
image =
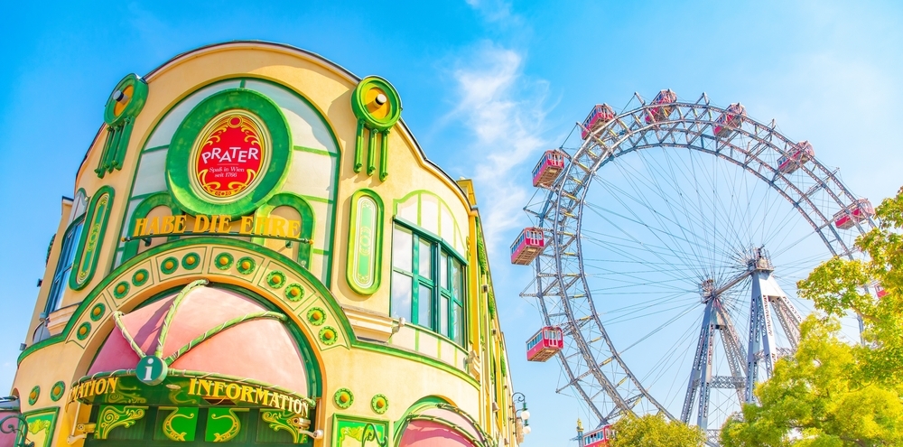
[[[811,144],[739,103],[662,90],[624,110],[594,107],[533,172],[533,227],[511,247],[534,268],[521,295],[544,321],[527,356],[557,357],[558,391],[598,433],[624,414],[665,414],[716,445],[796,349],[812,310],[796,281],[831,256],[861,256],[853,241],[874,212]],[[855,318],[842,326],[858,337]]]

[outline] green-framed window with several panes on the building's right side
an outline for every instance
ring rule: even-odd
[[[465,341],[464,265],[452,250],[396,224],[392,237],[392,316]]]

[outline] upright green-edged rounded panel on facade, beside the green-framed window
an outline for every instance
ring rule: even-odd
[[[372,190],[351,195],[345,279],[351,290],[370,295],[379,289],[383,259],[383,200]]]

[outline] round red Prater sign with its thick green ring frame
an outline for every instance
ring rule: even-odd
[[[166,181],[192,214],[247,214],[284,181],[291,147],[273,101],[244,88],[224,90],[194,107],[172,136]]]

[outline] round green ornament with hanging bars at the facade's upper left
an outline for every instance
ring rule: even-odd
[[[94,170],[101,179],[107,172],[122,169],[128,142],[132,137],[132,125],[135,117],[141,113],[146,99],[147,84],[135,73],[120,80],[107,99],[107,107],[104,109],[107,140],[100,154],[98,168]]]

